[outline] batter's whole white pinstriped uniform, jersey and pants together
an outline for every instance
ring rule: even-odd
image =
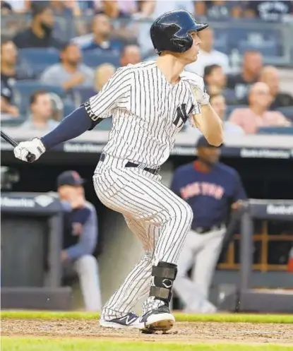
[[[156,168],[169,157],[177,133],[193,114],[201,112],[191,85],[201,89],[203,78],[183,71],[172,85],[155,61],[129,65],[116,71],[101,92],[85,102],[93,121],[112,116],[113,126],[93,177],[100,201],[126,219],[142,242],[145,255],[104,305],[102,318],[117,319],[131,310],[150,290],[152,267],[177,263],[192,220],[190,206],[161,183]],[[139,167],[127,167],[132,161]],[[153,296],[143,314],[162,301]]]

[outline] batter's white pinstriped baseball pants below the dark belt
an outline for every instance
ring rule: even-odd
[[[104,206],[124,215],[145,254],[105,304],[104,319],[124,316],[148,293],[153,265],[177,263],[193,218],[189,205],[161,184],[160,175],[125,168],[126,162],[107,155],[97,165],[93,182]]]

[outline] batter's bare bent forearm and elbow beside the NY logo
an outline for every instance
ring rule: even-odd
[[[210,145],[220,146],[223,143],[222,120],[210,104],[202,105],[201,114],[194,115],[193,119]]]

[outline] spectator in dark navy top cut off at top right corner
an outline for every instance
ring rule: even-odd
[[[284,16],[293,14],[292,1],[244,1],[246,2],[245,17],[261,18],[268,21],[282,21]]]

